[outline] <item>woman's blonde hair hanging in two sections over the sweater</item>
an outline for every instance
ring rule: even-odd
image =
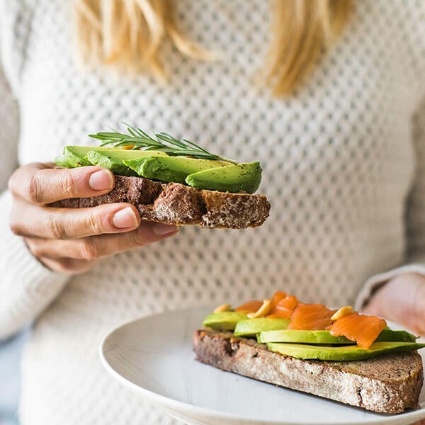
[[[275,96],[292,93],[346,26],[352,0],[274,0],[265,77]],[[211,60],[176,23],[173,0],[74,0],[84,62],[152,71],[166,78],[160,49],[168,39],[182,55]]]

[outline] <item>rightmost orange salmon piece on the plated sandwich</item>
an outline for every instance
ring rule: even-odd
[[[329,331],[332,336],[345,336],[367,350],[386,326],[384,319],[353,312],[336,320]]]

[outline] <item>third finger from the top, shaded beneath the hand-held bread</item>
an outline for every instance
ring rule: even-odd
[[[139,246],[171,237],[178,232],[178,227],[142,222],[132,232],[124,234],[103,234],[82,239],[55,240],[26,238],[28,248],[40,259],[72,259],[75,261],[95,261],[106,256],[128,251]],[[84,264],[64,263],[62,267],[81,266]]]

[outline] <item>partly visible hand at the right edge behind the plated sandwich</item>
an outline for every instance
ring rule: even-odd
[[[363,311],[393,320],[425,335],[425,277],[404,273],[389,280],[373,295]]]

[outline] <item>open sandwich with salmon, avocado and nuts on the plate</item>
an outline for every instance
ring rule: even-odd
[[[385,320],[305,304],[277,292],[270,300],[224,304],[193,334],[197,359],[222,370],[380,413],[416,408],[425,344]]]

